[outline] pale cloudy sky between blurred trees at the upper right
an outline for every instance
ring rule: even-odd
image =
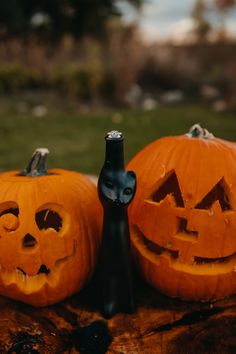
[[[207,16],[214,24],[219,25],[219,14],[213,10],[213,0],[205,1],[209,11]],[[123,12],[123,20],[127,23],[138,22],[143,37],[147,41],[183,40],[193,29],[191,11],[195,0],[144,0],[138,13],[130,5],[120,0],[119,7]],[[236,36],[236,6],[226,14],[226,26],[232,36]]]

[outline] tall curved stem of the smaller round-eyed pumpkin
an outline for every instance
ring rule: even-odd
[[[28,166],[24,171],[19,173],[19,176],[39,177],[48,174],[46,169],[46,159],[49,150],[46,148],[38,148],[34,151]]]

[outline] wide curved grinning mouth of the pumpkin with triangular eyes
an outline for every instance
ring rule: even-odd
[[[236,252],[219,258],[194,257],[193,264],[184,264],[179,261],[179,251],[161,247],[150,241],[137,226],[132,227],[132,241],[138,251],[149,258],[153,263],[159,264],[161,258],[169,260],[172,268],[186,271],[188,273],[204,274],[228,273],[236,271]]]

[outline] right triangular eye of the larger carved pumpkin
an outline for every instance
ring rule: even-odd
[[[223,211],[231,209],[229,197],[227,195],[227,186],[223,178],[201,200],[201,202],[195,206],[195,208],[210,209],[217,200],[219,201],[221,209]]]

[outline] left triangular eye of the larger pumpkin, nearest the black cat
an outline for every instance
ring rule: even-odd
[[[171,175],[167,177],[157,191],[152,194],[151,199],[159,203],[161,200],[165,199],[168,194],[174,197],[178,207],[184,207],[184,201],[175,172],[172,172]]]

